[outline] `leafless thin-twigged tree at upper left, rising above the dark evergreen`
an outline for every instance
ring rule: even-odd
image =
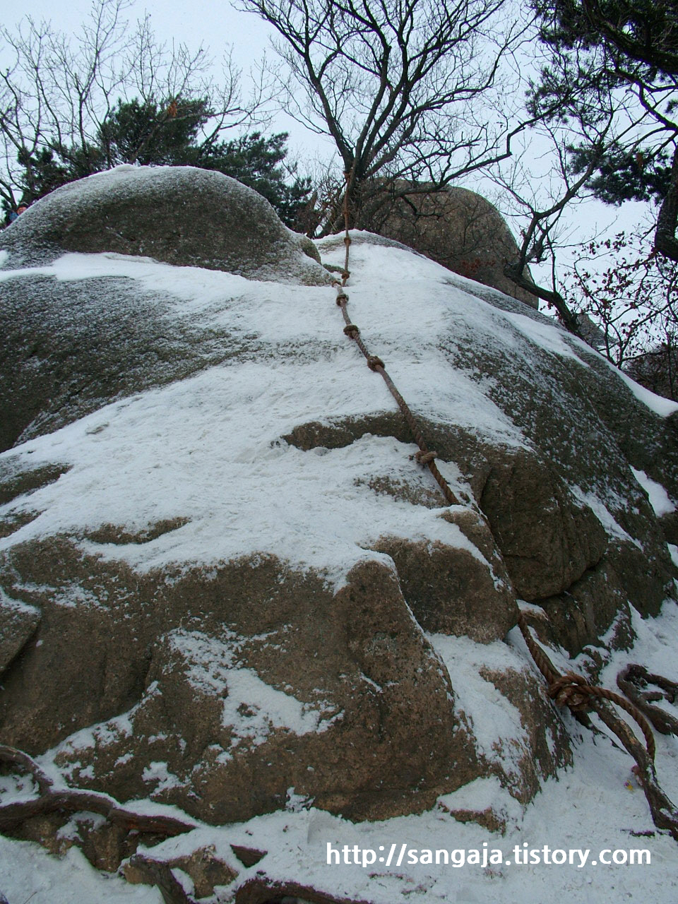
[[[7,205],[16,205],[31,178],[26,160],[53,147],[87,155],[118,100],[204,99],[215,132],[244,122],[258,107],[260,83],[243,103],[240,72],[229,56],[221,80],[214,80],[204,47],[158,42],[148,16],[127,22],[128,7],[127,0],[93,0],[72,38],[30,15],[15,31],[0,29],[7,61],[0,71],[0,196]]]

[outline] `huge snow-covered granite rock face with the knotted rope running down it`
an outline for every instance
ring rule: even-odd
[[[0,456],[0,724],[71,784],[215,823],[483,777],[524,804],[570,751],[517,600],[595,674],[674,594],[676,406],[409,250],[351,256],[353,320],[462,504],[332,287],[5,259],[4,391],[32,407]]]

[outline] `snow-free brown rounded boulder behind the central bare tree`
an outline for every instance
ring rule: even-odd
[[[538,307],[537,298],[504,276],[518,246],[502,214],[481,194],[452,186],[408,195],[366,214],[369,228],[443,267]]]

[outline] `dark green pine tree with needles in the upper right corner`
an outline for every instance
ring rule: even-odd
[[[571,115],[593,122],[599,101],[615,95],[618,115],[632,125],[623,139],[598,155],[592,180],[598,196],[619,203],[627,198],[660,201],[655,214],[654,250],[678,261],[678,20],[675,0],[531,0],[540,35],[548,48],[535,98],[561,100],[570,93],[585,103]],[[591,156],[574,148],[575,168]],[[672,161],[673,165],[668,162]]]

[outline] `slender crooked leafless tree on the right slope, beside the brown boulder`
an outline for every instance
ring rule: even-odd
[[[555,308],[563,325],[582,335],[583,309],[570,304],[572,294],[563,292],[563,275],[557,272],[560,252],[571,238],[565,222],[577,222],[573,243],[585,254],[597,237],[583,219],[577,220],[577,205],[592,196],[591,180],[610,155],[623,148],[626,157],[642,158],[643,148],[656,137],[656,111],[626,82],[596,77],[596,61],[601,70],[607,65],[605,48],[589,49],[579,63],[573,56],[570,47],[556,46],[543,66],[544,57],[540,61],[540,51],[535,53],[532,71],[543,68],[539,84],[531,84],[528,103],[533,117],[530,153],[516,153],[508,165],[494,169],[493,178],[521,223],[520,250],[505,267],[506,276]],[[532,282],[528,272],[534,264],[550,270],[542,285]],[[541,267],[542,274],[545,269]]]

